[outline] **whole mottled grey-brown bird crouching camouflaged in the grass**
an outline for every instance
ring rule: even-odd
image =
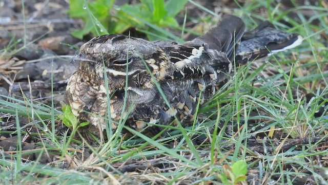
[[[108,108],[114,129],[125,116],[125,125],[136,131],[148,123],[168,125],[174,117],[182,126],[190,126],[198,100],[201,105],[215,94],[234,61],[238,66],[302,42],[301,36],[278,31],[269,22],[244,30],[240,18],[226,15],[208,33],[183,44],[121,34],[93,38],[72,59],[80,65],[69,79],[65,102],[80,121],[89,121],[100,133],[109,122],[105,121]],[[150,124],[143,133],[153,136],[161,129]]]

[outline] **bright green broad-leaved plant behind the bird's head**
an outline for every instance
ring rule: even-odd
[[[122,33],[134,27],[145,32],[149,40],[167,38],[170,36],[169,33],[160,27],[177,28],[179,25],[175,16],[188,1],[142,0],[139,4],[124,4],[120,7],[115,7],[114,2],[96,0],[81,4],[78,0],[70,0],[71,17],[81,18],[85,22],[83,29],[72,34],[82,39],[88,33],[94,35]]]

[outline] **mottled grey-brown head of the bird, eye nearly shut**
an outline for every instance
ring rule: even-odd
[[[81,61],[78,70],[93,74],[91,78],[104,78],[106,71],[114,89],[124,88],[127,78],[131,88],[152,88],[154,79],[164,79],[169,67],[169,58],[160,47],[121,34],[93,38],[81,46],[72,59],[75,61]]]

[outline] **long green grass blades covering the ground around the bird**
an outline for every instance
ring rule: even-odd
[[[303,44],[262,62],[235,66],[229,83],[197,110],[198,115],[208,119],[198,119],[194,127],[184,129],[167,126],[172,131],[165,138],[154,140],[130,130],[139,138],[124,140],[116,132],[109,133],[109,141],[101,147],[76,140],[68,142],[69,131],[58,135],[54,130],[60,124],[60,110],[25,96],[1,96],[4,100],[0,99],[0,112],[8,113],[3,122],[12,115],[17,128],[6,132],[17,135],[18,142],[11,151],[1,150],[0,182],[245,184],[241,170],[244,166],[239,162],[245,161],[247,176],[257,174],[261,184],[327,184],[328,52],[323,44],[328,33],[327,7],[322,3],[282,11],[279,6],[270,1],[251,1],[228,13],[243,17],[248,28],[256,26],[256,19],[270,20],[279,29],[302,35]],[[301,13],[297,13],[301,24],[288,16],[305,8],[318,12],[312,19],[317,18],[319,24],[307,21]],[[281,19],[291,27],[280,23]],[[28,117],[31,123],[21,127],[18,115]],[[31,125],[37,129],[27,132]],[[217,135],[208,131],[213,125]],[[121,124],[120,129],[123,127]],[[210,142],[193,144],[195,133],[209,135]],[[24,148],[27,144],[20,138],[27,135],[39,138],[34,143],[38,145],[36,149]],[[48,157],[55,160],[40,164]]]

